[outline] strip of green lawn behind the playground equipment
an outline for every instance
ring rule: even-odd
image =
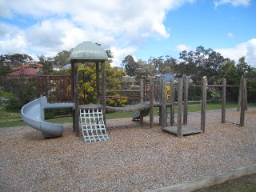
[[[238,105],[235,103],[228,103],[226,108],[236,108]],[[249,106],[254,107],[254,106]],[[220,110],[222,108],[221,104],[216,103],[207,103],[206,110]],[[196,112],[201,110],[200,104],[189,105],[189,112]],[[106,114],[106,119],[114,119],[114,118],[131,118],[133,114],[137,113],[137,111],[123,112],[123,113],[110,113]],[[177,113],[177,106],[175,106],[175,113]],[[154,115],[158,115],[158,108],[154,108]],[[47,122],[52,123],[65,123],[72,122],[72,117],[65,118],[52,118],[46,120]],[[0,128],[1,127],[10,127],[10,126],[25,126],[26,123],[22,121],[20,113],[8,112],[5,109],[0,110]]]

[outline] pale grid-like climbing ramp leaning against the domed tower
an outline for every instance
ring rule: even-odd
[[[106,127],[103,121],[101,109],[81,109],[80,124],[85,142],[101,142],[110,140],[106,134]]]

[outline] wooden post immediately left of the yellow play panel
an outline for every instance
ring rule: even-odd
[[[161,126],[163,131],[163,128],[166,127],[166,80],[162,78],[161,82]]]

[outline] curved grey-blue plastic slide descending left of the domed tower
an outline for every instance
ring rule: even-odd
[[[43,138],[60,137],[63,134],[63,126],[46,122],[44,110],[71,107],[74,107],[74,102],[49,103],[47,98],[43,96],[22,107],[22,120],[32,128],[42,131]]]

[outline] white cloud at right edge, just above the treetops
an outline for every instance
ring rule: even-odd
[[[248,64],[256,67],[256,38],[240,43],[234,48],[220,48],[215,49],[215,51],[235,62],[238,62],[239,58],[245,57]]]

